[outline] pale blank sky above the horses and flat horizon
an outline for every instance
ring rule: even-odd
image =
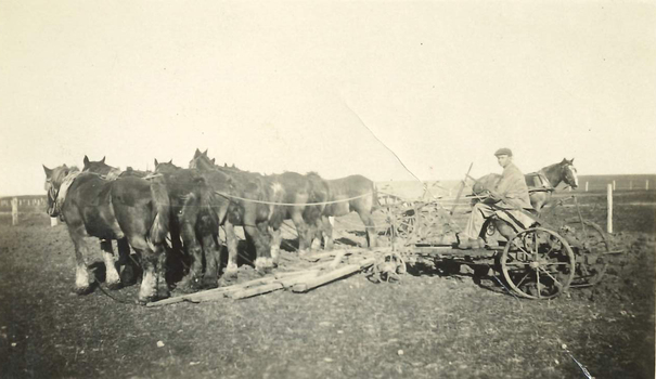
[[[656,173],[647,1],[0,1],[0,196],[41,165]]]

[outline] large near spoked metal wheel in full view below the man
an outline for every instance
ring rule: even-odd
[[[517,233],[500,257],[501,272],[517,295],[552,299],[567,290],[575,274],[569,244],[555,232],[533,227]]]

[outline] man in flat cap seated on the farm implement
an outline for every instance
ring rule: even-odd
[[[527,228],[532,224],[532,219],[517,209],[532,209],[532,207],[524,174],[513,164],[513,152],[504,147],[498,149],[494,155],[499,166],[503,168],[503,173],[493,187],[484,188],[491,190],[489,197],[474,205],[465,230],[458,235],[458,248],[460,249],[485,247],[486,243],[481,238],[481,235],[485,235],[483,226],[491,217],[507,222],[514,232]],[[513,234],[513,231],[505,224],[498,230],[506,238]]]

